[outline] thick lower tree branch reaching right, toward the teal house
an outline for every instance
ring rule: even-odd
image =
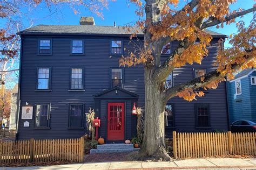
[[[252,60],[253,58],[255,58],[254,55],[252,56],[245,56],[244,57],[246,59],[245,62]],[[231,69],[233,70],[239,70],[241,69],[241,66],[244,63],[239,63],[239,64],[234,64],[231,66]],[[217,70],[213,70],[210,73],[207,73],[203,76],[197,77],[195,79],[192,79],[191,81],[188,81],[186,83],[183,84],[179,84],[178,86],[174,86],[172,88],[166,89],[165,90],[165,100],[168,101],[170,98],[175,97],[177,95],[177,93],[185,90],[186,88],[191,88],[193,90],[198,89],[200,87],[204,87],[206,86],[208,83],[214,81],[214,80],[218,80],[220,78],[225,77],[226,75],[221,75],[219,72],[217,72]],[[201,77],[204,77],[204,81],[201,81]]]

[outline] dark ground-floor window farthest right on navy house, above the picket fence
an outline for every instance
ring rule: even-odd
[[[210,127],[209,104],[196,104],[196,126]]]

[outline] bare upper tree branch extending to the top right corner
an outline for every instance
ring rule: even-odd
[[[247,13],[250,13],[250,12],[253,12],[253,11],[256,11],[256,6],[254,6],[251,9],[248,9],[248,10],[245,10],[245,11],[241,11],[241,12],[237,12],[237,13],[234,13],[234,14],[232,14],[230,16],[227,16],[227,17],[225,17],[224,20],[219,20],[217,18],[210,18],[210,19],[206,20],[206,22],[204,22],[202,24],[201,29],[203,30],[203,29],[206,29],[207,27],[211,27],[211,26],[214,26],[214,25],[218,25],[220,23],[228,22],[231,19],[240,17],[242,15],[246,15]]]

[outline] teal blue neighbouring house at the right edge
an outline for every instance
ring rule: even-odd
[[[239,119],[256,122],[256,68],[242,70],[227,83],[230,123]]]

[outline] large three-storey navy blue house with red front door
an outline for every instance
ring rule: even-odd
[[[209,54],[201,65],[174,69],[166,86],[175,86],[215,69],[219,50],[212,34]],[[37,25],[18,32],[22,39],[19,79],[18,139],[73,138],[86,133],[89,108],[100,118],[99,136],[106,141],[123,141],[136,135],[133,103],[144,108],[143,66],[119,67],[119,58],[134,51],[123,27],[80,25]],[[142,45],[143,34],[138,38]],[[173,41],[163,48],[162,60],[177,47]],[[172,98],[166,136],[172,131],[228,130],[226,85],[205,91],[197,101]]]

